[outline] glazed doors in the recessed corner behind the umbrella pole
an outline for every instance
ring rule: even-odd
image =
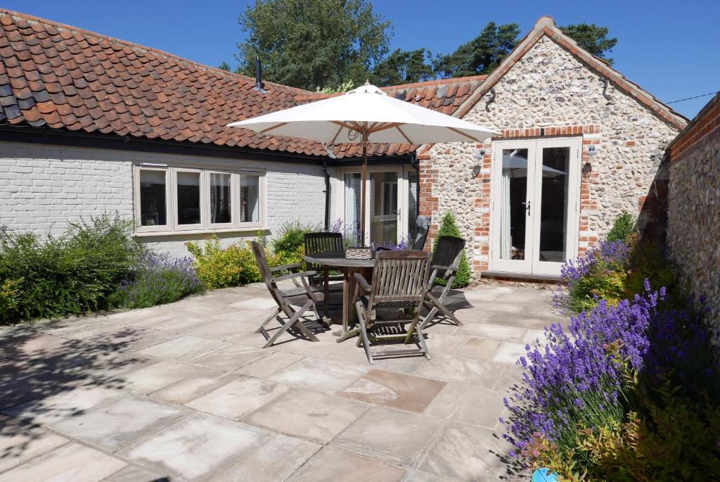
[[[408,179],[402,167],[374,167],[367,172],[365,185],[365,232],[360,229],[361,178],[359,169],[345,169],[340,174],[338,206],[345,235],[351,243],[364,238],[365,244],[395,244],[407,235]]]

